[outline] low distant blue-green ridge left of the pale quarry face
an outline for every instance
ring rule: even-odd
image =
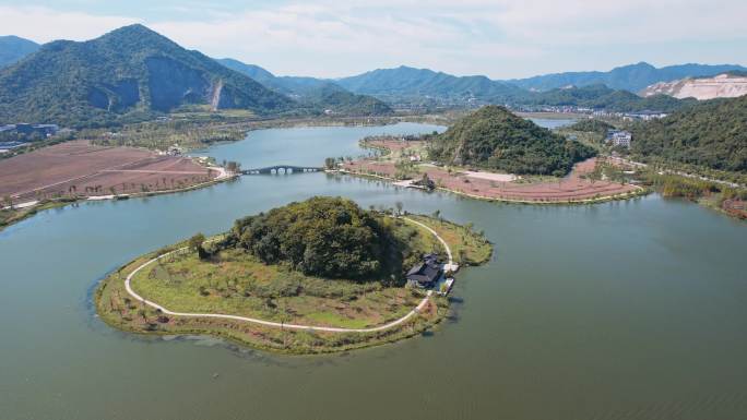
[[[602,84],[595,84],[532,93],[525,99],[520,100],[520,103],[535,106],[577,106],[605,109],[613,112],[643,110],[672,112],[695,103],[695,100],[677,99],[666,95],[654,95],[643,98],[628,91],[616,91]]]

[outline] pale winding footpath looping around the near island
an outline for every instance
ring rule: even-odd
[[[422,223],[419,223],[419,221],[413,220],[413,219],[407,218],[407,217],[403,217],[403,219],[405,219],[405,220],[407,220],[407,221],[410,221],[410,223],[413,223],[413,224],[415,224],[415,225],[418,225],[418,226],[420,226],[420,227],[427,229],[427,230],[428,230],[429,232],[431,232],[434,236],[436,236],[436,238],[443,244],[443,248],[446,249],[447,254],[449,255],[449,264],[450,264],[450,265],[453,264],[452,255],[451,255],[451,248],[449,248],[449,244],[443,240],[443,238],[441,238],[434,229],[431,229],[429,226],[427,226],[427,225],[425,225],[425,224],[422,224]],[[256,317],[239,316],[239,315],[229,315],[229,314],[222,314],[222,313],[175,312],[175,311],[169,311],[168,309],[166,309],[166,308],[159,305],[159,304],[156,303],[156,302],[152,302],[152,301],[150,301],[150,300],[143,298],[142,296],[138,295],[134,290],[132,290],[132,287],[131,287],[132,278],[133,278],[141,269],[145,268],[146,266],[153,264],[154,262],[156,262],[156,261],[158,261],[158,260],[161,260],[161,259],[163,259],[163,257],[165,257],[165,256],[168,256],[168,255],[171,255],[171,254],[175,254],[175,253],[178,253],[178,252],[182,252],[182,251],[185,251],[185,250],[187,250],[187,247],[180,248],[180,249],[178,249],[178,250],[174,250],[174,251],[171,251],[171,252],[167,252],[167,253],[165,253],[165,254],[163,254],[163,255],[156,256],[156,257],[153,259],[153,260],[149,260],[147,262],[145,262],[145,263],[143,263],[142,265],[140,265],[140,266],[139,266],[138,268],[135,268],[132,273],[130,273],[130,274],[127,276],[127,278],[124,279],[124,289],[127,289],[127,292],[130,293],[130,296],[132,296],[133,298],[135,298],[138,301],[140,301],[140,302],[142,302],[142,303],[145,303],[145,304],[147,304],[147,305],[151,307],[151,308],[155,308],[155,309],[157,309],[157,310],[161,310],[161,312],[163,312],[163,313],[165,313],[165,314],[168,314],[168,315],[173,315],[173,316],[217,317],[217,319],[223,319],[223,320],[235,320],[235,321],[251,322],[251,323],[254,323],[254,324],[260,324],[260,325],[265,325],[265,326],[272,326],[272,327],[277,327],[277,328],[319,331],[319,332],[328,332],[328,333],[376,333],[376,332],[379,332],[379,331],[389,329],[389,328],[391,328],[391,327],[393,327],[393,326],[396,326],[396,325],[402,324],[403,322],[407,321],[410,317],[412,317],[412,316],[416,315],[417,313],[419,313],[419,312],[423,310],[423,308],[426,305],[426,303],[428,303],[428,299],[429,299],[430,296],[432,295],[432,290],[428,290],[426,297],[423,298],[423,300],[417,304],[417,307],[415,307],[412,311],[407,312],[406,315],[404,315],[404,316],[402,316],[402,317],[400,317],[400,319],[398,319],[398,320],[394,320],[394,321],[392,321],[392,322],[390,322],[390,323],[387,323],[387,324],[383,324],[383,325],[379,325],[379,326],[375,326],[375,327],[370,327],[370,328],[339,328],[339,327],[332,327],[332,326],[316,326],[316,325],[286,324],[286,323],[280,323],[280,322],[274,322],[274,321],[259,320],[259,319],[256,319]]]

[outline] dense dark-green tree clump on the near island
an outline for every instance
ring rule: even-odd
[[[392,239],[381,216],[341,197],[313,197],[236,220],[228,243],[309,275],[371,278]]]

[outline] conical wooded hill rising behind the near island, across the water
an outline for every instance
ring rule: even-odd
[[[486,106],[464,117],[430,143],[431,158],[511,173],[564,176],[594,155],[503,107]]]

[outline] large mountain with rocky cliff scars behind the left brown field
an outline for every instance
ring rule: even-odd
[[[142,25],[58,40],[0,71],[0,121],[96,127],[185,105],[283,112],[295,104]]]

